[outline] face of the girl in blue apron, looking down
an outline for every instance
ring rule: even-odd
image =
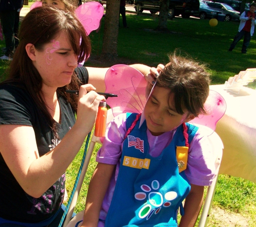
[[[147,127],[153,136],[160,136],[195,118],[188,110],[183,110],[184,114],[179,115],[175,110],[173,95],[168,100],[169,93],[169,88],[155,86],[144,108]]]

